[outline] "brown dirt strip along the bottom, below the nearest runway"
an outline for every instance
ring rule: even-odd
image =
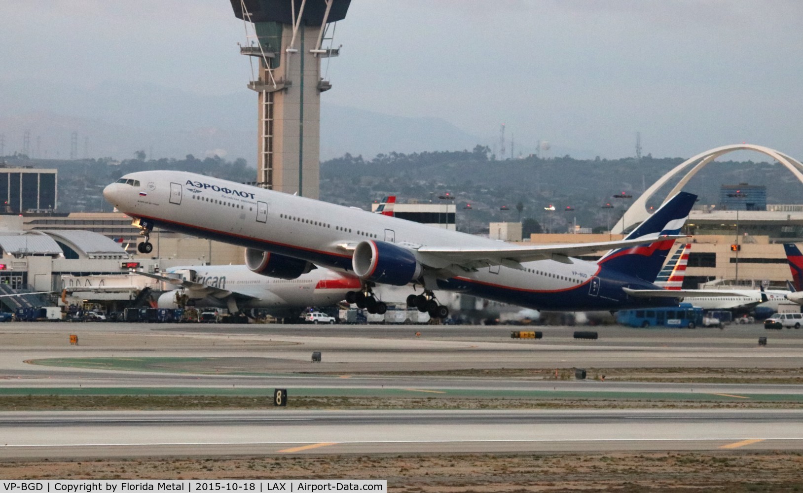
[[[803,491],[803,454],[413,454],[0,462],[2,479],[387,479],[389,491]]]

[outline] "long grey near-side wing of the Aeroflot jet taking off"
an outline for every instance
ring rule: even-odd
[[[477,249],[471,247],[460,248],[459,246],[421,246],[416,250],[421,256],[422,262],[430,267],[447,267],[449,264],[458,264],[462,267],[471,268],[488,264],[520,267],[518,264],[521,262],[544,259],[553,259],[557,260],[558,262],[572,263],[572,261],[569,260],[569,257],[588,255],[598,251],[612,250],[615,248],[626,248],[628,246],[638,246],[653,242],[675,240],[678,238],[687,238],[687,236],[652,235],[614,242],[569,243],[565,245],[539,246],[511,246],[507,243],[500,243],[499,248],[494,249]]]

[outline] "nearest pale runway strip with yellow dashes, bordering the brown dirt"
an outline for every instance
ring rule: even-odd
[[[796,450],[803,410],[6,413],[0,457]]]

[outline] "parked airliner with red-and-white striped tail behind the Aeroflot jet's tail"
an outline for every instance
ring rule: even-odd
[[[770,291],[762,289],[682,289],[683,278],[691,251],[691,243],[681,244],[669,262],[658,275],[658,286],[666,289],[669,298],[681,297],[695,307],[703,310],[734,310],[756,307],[766,304],[777,310],[778,304],[784,301],[789,291]],[[634,296],[655,295],[652,291],[629,291]]]

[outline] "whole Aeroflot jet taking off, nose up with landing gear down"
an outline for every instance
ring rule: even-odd
[[[129,173],[104,198],[141,228],[144,253],[158,226],[245,246],[246,265],[261,275],[296,279],[312,264],[353,272],[364,287],[347,300],[369,310],[385,309],[373,296],[376,284],[422,287],[408,304],[445,317],[434,291],[548,310],[675,306],[625,290],[662,291],[653,281],[696,196],[675,195],[622,241],[556,246],[510,245],[180,171]],[[608,248],[596,263],[572,257]]]

